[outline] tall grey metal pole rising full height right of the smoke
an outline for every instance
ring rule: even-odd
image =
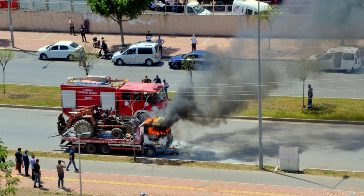
[[[260,69],[260,0],[258,0],[258,124],[259,124],[259,168],[263,169],[263,130],[262,130],[262,84]]]

